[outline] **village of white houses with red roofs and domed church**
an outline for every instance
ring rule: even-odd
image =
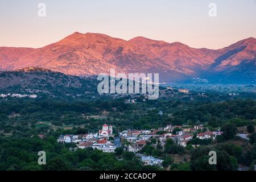
[[[58,143],[76,143],[76,148],[85,149],[92,147],[93,149],[101,150],[102,152],[115,152],[118,147],[123,150],[134,152],[143,162],[150,166],[162,167],[162,159],[141,154],[141,150],[147,144],[153,147],[164,148],[168,140],[173,140],[177,146],[183,148],[190,144],[193,148],[199,147],[200,142],[204,140],[216,140],[218,135],[221,135],[220,129],[217,131],[208,131],[203,125],[198,126],[172,126],[167,125],[164,128],[151,130],[125,130],[118,135],[113,134],[113,126],[106,123],[98,133],[89,133],[84,135],[60,135],[57,139]],[[196,139],[197,142],[192,142]],[[155,142],[152,142],[152,141]],[[205,143],[204,143],[205,144]],[[74,148],[72,148],[74,150]]]

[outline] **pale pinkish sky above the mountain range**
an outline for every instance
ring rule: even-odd
[[[256,38],[255,22],[256,0],[0,0],[0,46],[38,48],[78,31],[217,49]]]

